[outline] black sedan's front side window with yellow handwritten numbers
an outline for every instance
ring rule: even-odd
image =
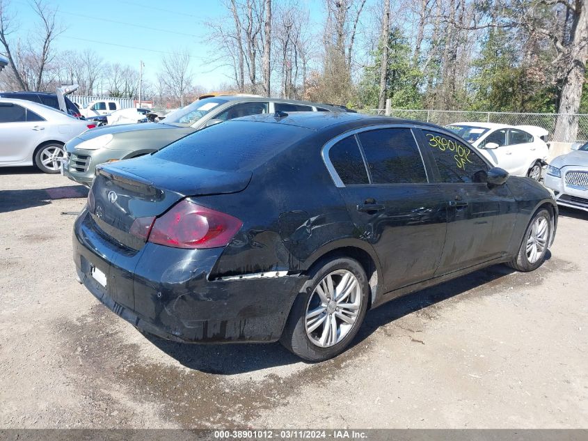
[[[488,165],[475,149],[447,134],[422,130],[444,183],[485,183]]]

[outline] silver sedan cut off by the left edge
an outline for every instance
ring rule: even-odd
[[[95,125],[27,100],[0,98],[0,167],[36,165],[58,173],[63,144]]]

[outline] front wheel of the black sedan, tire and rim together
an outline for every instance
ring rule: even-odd
[[[537,270],[545,261],[550,239],[551,214],[542,208],[535,213],[529,222],[516,258],[507,265],[522,272]]]

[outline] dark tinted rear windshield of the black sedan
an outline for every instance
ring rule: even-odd
[[[312,132],[294,125],[227,121],[189,134],[154,155],[202,169],[251,170]]]

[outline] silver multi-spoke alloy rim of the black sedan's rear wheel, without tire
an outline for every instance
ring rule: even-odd
[[[305,312],[308,339],[328,348],[342,341],[353,329],[361,306],[361,286],[348,270],[327,274],[312,291]]]

